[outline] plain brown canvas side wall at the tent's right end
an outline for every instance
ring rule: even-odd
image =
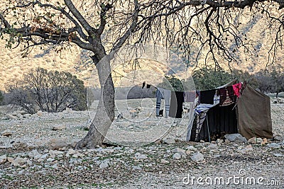
[[[271,102],[268,96],[246,86],[237,103],[236,112],[239,133],[246,139],[273,138]]]

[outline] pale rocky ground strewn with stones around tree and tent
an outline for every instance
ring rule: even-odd
[[[186,121],[150,116],[146,123],[141,117],[116,120],[107,136],[117,139],[118,128],[141,138],[147,127],[163,130],[144,136],[147,145],[74,150],[87,133],[87,111],[8,120],[9,109],[1,107],[0,188],[283,188],[283,108],[271,104],[276,140],[261,139],[263,144],[185,142]]]

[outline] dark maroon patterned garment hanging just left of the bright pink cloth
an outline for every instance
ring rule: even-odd
[[[236,96],[234,95],[233,86],[227,86],[225,88],[219,88],[220,106],[231,105],[236,102]]]

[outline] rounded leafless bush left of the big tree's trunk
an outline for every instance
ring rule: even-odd
[[[11,84],[8,91],[10,103],[21,106],[28,113],[87,109],[83,81],[66,71],[30,69],[22,80]]]

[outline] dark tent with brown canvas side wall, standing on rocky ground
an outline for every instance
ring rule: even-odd
[[[221,86],[236,84],[232,81]],[[196,123],[196,122],[195,122]],[[250,86],[246,86],[239,101],[234,104],[209,108],[202,127],[197,132],[197,125],[189,126],[187,140],[208,141],[223,134],[240,133],[246,139],[251,137],[273,138],[270,98]]]

